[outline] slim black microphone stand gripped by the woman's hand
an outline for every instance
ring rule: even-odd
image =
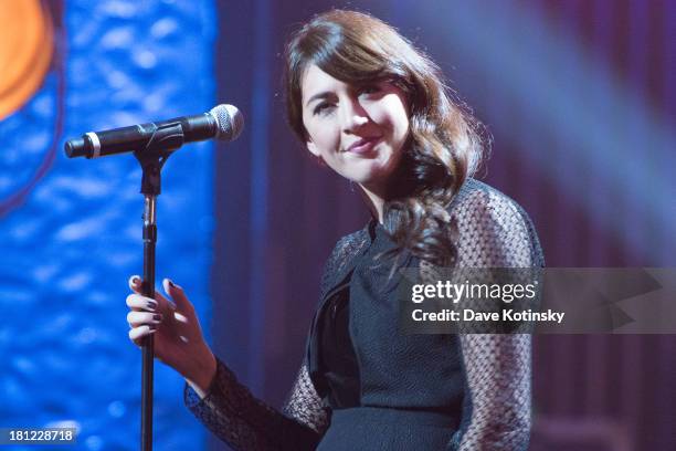
[[[157,243],[156,201],[161,191],[162,166],[173,150],[183,145],[180,123],[166,124],[157,128],[148,145],[134,150],[142,169],[141,190],[144,195],[144,281],[141,293],[155,298],[155,248]],[[152,450],[152,365],[155,357],[154,335],[141,340],[141,423],[140,449]]]

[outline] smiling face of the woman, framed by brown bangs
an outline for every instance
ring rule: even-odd
[[[409,135],[403,92],[390,82],[349,85],[316,65],[300,87],[308,150],[342,177],[383,188]]]

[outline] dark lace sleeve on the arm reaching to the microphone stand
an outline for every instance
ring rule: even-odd
[[[255,398],[221,360],[204,398],[186,384],[184,401],[198,420],[235,450],[314,450],[325,429],[326,416],[305,365],[284,413]]]

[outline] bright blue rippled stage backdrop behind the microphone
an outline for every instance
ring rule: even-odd
[[[30,3],[36,10],[21,9]],[[44,80],[0,122],[0,427],[74,426],[74,449],[138,449],[140,352],[127,338],[125,297],[127,277],[142,271],[141,172],[131,155],[68,160],[62,146],[84,132],[213,106],[215,6],[4,6],[42,9],[55,27],[44,38],[54,44]],[[158,283],[171,276],[186,286],[202,317],[211,305],[211,150],[173,155],[158,203]],[[158,363],[155,380],[156,448],[202,448],[182,379]]]

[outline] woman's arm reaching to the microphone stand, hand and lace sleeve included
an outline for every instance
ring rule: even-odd
[[[213,356],[183,289],[169,280],[163,285],[172,301],[159,292],[155,300],[140,295],[140,277],[130,277],[129,338],[140,346],[145,336],[155,336],[156,358],[186,378],[186,403],[198,419],[237,450],[316,448],[324,417],[323,411],[315,411],[320,405],[316,403],[314,386],[306,380],[307,370],[300,370],[294,385],[288,416],[265,405]]]

